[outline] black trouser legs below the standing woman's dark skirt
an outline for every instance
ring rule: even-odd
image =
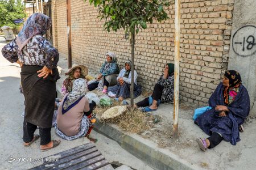
[[[29,122],[23,122],[23,141],[28,143],[34,138],[34,132],[37,126],[30,124]],[[51,142],[51,128],[39,128],[40,145],[46,145]]]

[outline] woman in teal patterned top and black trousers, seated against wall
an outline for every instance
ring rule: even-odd
[[[101,67],[100,74],[97,77],[97,81],[88,85],[88,90],[92,91],[98,87],[104,94],[108,91],[109,86],[117,84],[117,75],[119,73],[119,67],[117,65],[117,58],[114,53],[106,54],[106,61]]]

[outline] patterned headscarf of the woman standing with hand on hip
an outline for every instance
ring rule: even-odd
[[[28,43],[28,41],[35,35],[44,35],[51,27],[51,18],[42,13],[32,14],[27,22],[24,24],[22,30],[20,30],[18,37],[16,39],[19,50]]]

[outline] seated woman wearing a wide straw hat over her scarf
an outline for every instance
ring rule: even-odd
[[[68,75],[68,78],[66,78],[63,81],[62,87],[61,87],[61,96],[64,97],[65,94],[72,91],[73,82],[78,79],[82,78],[85,79],[85,76],[88,74],[87,67],[83,65],[78,65],[75,67],[72,67],[68,73],[65,73],[65,75]]]

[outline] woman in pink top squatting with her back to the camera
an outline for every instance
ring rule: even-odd
[[[89,104],[84,96],[87,91],[86,80],[76,79],[72,91],[66,94],[60,103],[55,129],[59,137],[71,141],[80,137],[89,137],[96,122],[92,113],[96,103]],[[92,139],[92,138],[89,138]]]

